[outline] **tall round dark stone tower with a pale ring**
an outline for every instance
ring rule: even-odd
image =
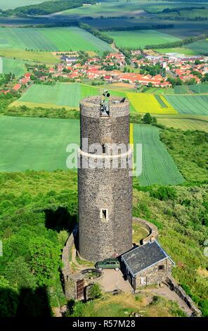
[[[80,102],[80,127],[79,254],[96,262],[132,247],[129,101],[110,97],[106,103],[100,96],[87,97]],[[100,149],[91,149],[91,144]],[[112,149],[112,144],[123,147]]]

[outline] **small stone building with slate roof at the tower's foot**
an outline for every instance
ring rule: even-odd
[[[134,289],[164,282],[175,263],[157,240],[122,255],[122,272]]]

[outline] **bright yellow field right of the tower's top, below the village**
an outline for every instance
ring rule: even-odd
[[[126,96],[134,106],[135,110],[138,113],[152,113],[152,114],[176,114],[177,111],[164,99],[163,96],[160,96],[161,101],[164,103],[164,106],[160,104],[159,101],[155,98],[153,94],[143,94],[143,93],[132,93],[126,92]]]

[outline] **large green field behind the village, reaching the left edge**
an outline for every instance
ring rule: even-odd
[[[0,27],[1,49],[112,51],[109,44],[79,27]]]

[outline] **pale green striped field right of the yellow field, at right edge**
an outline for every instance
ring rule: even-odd
[[[207,95],[166,95],[164,98],[178,113],[208,116]]]

